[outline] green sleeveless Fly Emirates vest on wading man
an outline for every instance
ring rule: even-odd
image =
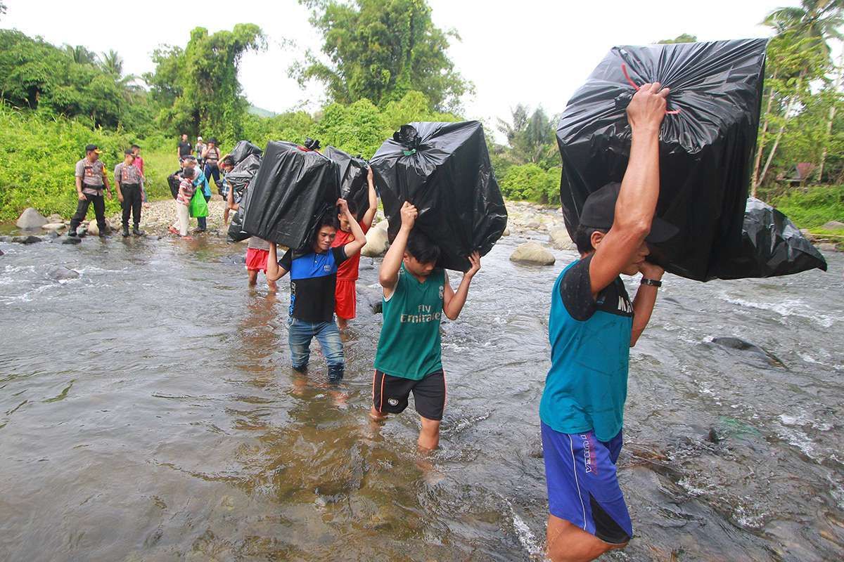
[[[384,299],[377,370],[418,381],[442,369],[440,319],[445,286],[445,270],[434,270],[420,283],[402,264],[395,290]]]

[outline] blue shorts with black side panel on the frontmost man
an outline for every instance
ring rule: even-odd
[[[621,431],[602,442],[592,431],[560,433],[542,424],[542,447],[551,515],[605,543],[629,541],[633,523],[615,475]]]

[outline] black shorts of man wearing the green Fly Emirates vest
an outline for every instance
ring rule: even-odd
[[[393,377],[378,370],[372,377],[372,405],[381,413],[401,414],[408,407],[411,391],[419,415],[429,420],[442,420],[442,410],[446,408],[446,374],[442,369],[419,381]]]

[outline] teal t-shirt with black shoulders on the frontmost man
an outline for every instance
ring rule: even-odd
[[[554,284],[551,368],[539,417],[554,431],[592,430],[599,441],[610,441],[624,420],[633,306],[620,278],[592,298],[591,261],[591,255],[577,260]]]

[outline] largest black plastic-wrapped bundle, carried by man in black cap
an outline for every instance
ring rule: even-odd
[[[657,216],[679,234],[654,249],[657,261],[699,281],[766,270],[767,254],[744,245],[744,207],[759,127],[766,40],[614,47],[578,89],[560,118],[560,200],[573,234],[587,195],[621,181],[630,155],[625,109],[636,84],[668,86],[659,136]],[[807,241],[808,242],[808,241]],[[737,247],[756,254],[738,260]],[[731,265],[755,260],[759,267]],[[802,266],[780,265],[776,274]]]

